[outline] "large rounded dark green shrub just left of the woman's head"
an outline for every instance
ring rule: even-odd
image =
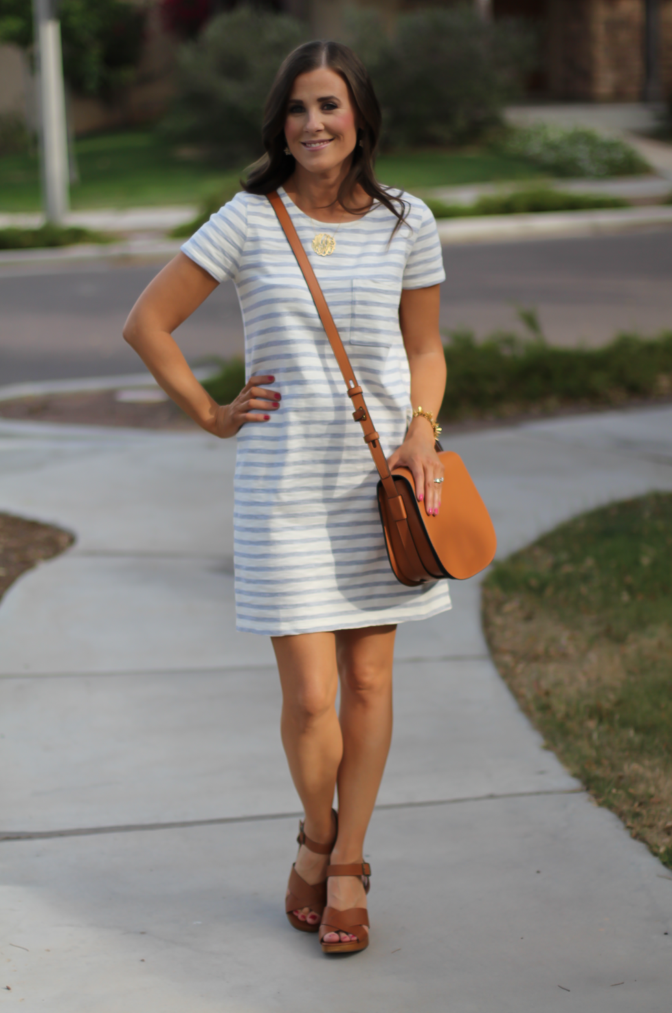
[[[169,140],[196,143],[225,165],[257,158],[263,105],[275,73],[305,40],[286,14],[241,7],[215,17],[179,58],[179,95],[163,123]]]

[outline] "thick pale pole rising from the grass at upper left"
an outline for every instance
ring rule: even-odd
[[[68,128],[63,84],[61,25],[52,0],[33,0],[38,63],[43,204],[48,222],[63,222],[70,210]]]

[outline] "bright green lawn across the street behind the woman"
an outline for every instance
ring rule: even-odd
[[[124,131],[76,142],[81,181],[71,189],[73,209],[199,204],[235,184],[238,172],[179,158],[151,131]],[[538,178],[538,169],[519,158],[490,151],[429,151],[381,157],[380,178],[405,189],[497,179]],[[0,158],[0,211],[39,210],[36,155]]]

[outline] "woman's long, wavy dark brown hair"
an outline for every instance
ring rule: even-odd
[[[321,67],[328,67],[343,78],[362,125],[357,131],[358,143],[352,152],[352,165],[339,187],[337,200],[351,214],[365,214],[365,211],[348,208],[345,203],[359,184],[365,193],[379,201],[398,219],[396,231],[404,221],[408,208],[401,198],[392,196],[379,183],[373,171],[381,136],[381,106],[366,68],[359,57],[341,43],[304,43],[283,60],[264,108],[261,139],[266,154],[250,167],[247,179],[242,181],[243,188],[248,193],[270,193],[293,172],[293,155],[284,153],[284,122],[291,86],[300,74],[308,74]]]

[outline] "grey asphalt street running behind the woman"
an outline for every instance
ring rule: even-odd
[[[444,248],[441,324],[479,336],[519,327],[537,310],[550,341],[596,345],[619,330],[672,327],[672,230],[451,245]],[[96,261],[0,268],[0,385],[135,372],[120,337],[161,263]],[[191,363],[243,352],[234,287],[221,286],[176,332]]]

